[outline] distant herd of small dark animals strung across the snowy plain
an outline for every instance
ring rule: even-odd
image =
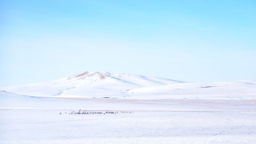
[[[93,111],[88,111],[88,110],[82,110],[80,109],[79,112],[68,112],[68,114],[118,114],[118,113],[133,113],[133,112],[128,112],[128,111],[105,111],[105,112],[93,112]],[[62,112],[60,112],[60,114],[62,114]],[[63,112],[63,114],[67,114],[67,112]]]

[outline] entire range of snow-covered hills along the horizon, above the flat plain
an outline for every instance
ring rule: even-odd
[[[256,81],[184,83],[125,73],[84,72],[2,90],[42,97],[252,100],[256,98]]]

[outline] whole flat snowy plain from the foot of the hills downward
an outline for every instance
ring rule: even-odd
[[[256,143],[255,100],[79,99],[0,91],[0,143]],[[117,114],[69,114],[80,109]],[[123,112],[132,113],[123,113]],[[61,113],[61,114],[60,114]]]

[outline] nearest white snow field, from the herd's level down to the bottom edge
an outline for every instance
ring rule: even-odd
[[[255,112],[1,110],[0,143],[255,143]]]

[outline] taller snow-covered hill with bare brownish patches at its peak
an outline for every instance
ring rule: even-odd
[[[29,96],[119,98],[129,96],[126,91],[130,89],[181,83],[183,82],[125,73],[84,72],[50,82],[2,89],[15,94]]]

